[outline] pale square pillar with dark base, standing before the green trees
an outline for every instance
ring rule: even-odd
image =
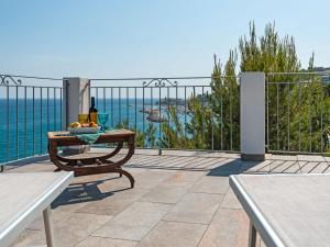
[[[242,72],[241,158],[265,159],[265,74]]]

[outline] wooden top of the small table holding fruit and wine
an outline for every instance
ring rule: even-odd
[[[113,137],[133,137],[135,133],[129,130],[113,130],[113,131],[106,131],[100,136],[101,138],[113,138]],[[48,132],[48,139],[73,139],[76,138],[75,135],[69,134],[69,132]]]

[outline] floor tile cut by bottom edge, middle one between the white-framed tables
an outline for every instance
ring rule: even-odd
[[[161,221],[139,247],[194,247],[197,246],[207,225]]]

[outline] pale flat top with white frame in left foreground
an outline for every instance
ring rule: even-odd
[[[10,245],[69,184],[74,172],[0,175],[0,246]]]

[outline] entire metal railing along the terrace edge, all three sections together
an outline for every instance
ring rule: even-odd
[[[270,153],[329,154],[329,76],[266,76]],[[63,127],[62,82],[0,75],[0,164],[47,153],[46,133]],[[239,77],[90,80],[96,106],[110,115],[107,126],[134,130],[138,147],[157,148],[160,153],[240,151],[239,89]]]

